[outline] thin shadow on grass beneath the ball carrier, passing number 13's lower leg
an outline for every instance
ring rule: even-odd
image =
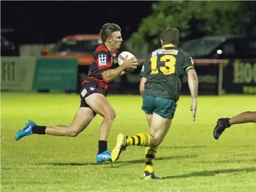
[[[196,158],[198,157],[197,154],[192,154],[189,156],[169,156],[169,157],[158,157],[156,158],[157,161],[164,161],[164,160],[170,160],[170,159],[184,159],[184,158]],[[132,161],[117,161],[113,164],[121,164],[120,166],[126,166],[129,164],[136,164],[136,163],[145,163],[145,159],[140,160],[132,160]],[[100,164],[110,164],[109,162],[105,163],[37,163],[36,166],[95,166]],[[120,167],[120,166],[115,166]]]

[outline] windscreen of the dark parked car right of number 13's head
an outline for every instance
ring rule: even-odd
[[[180,48],[188,52],[191,57],[205,56],[214,51],[221,43],[221,40],[196,39],[184,42]]]

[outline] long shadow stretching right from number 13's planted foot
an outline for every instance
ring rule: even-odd
[[[256,167],[242,168],[242,169],[222,169],[222,170],[204,170],[202,172],[191,172],[184,175],[172,175],[162,177],[161,179],[177,179],[177,178],[189,178],[189,177],[210,177],[221,173],[236,173],[236,172],[255,172]]]

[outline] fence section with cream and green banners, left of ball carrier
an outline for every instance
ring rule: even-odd
[[[77,89],[76,59],[1,57],[1,90]]]

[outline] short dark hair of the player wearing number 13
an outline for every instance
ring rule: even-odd
[[[163,40],[163,45],[173,44],[178,45],[179,42],[179,30],[176,28],[167,28],[163,31],[161,35]]]

